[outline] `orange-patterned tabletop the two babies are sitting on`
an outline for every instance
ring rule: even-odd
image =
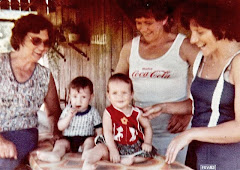
[[[52,148],[53,141],[44,140],[39,142],[37,150],[50,151]],[[60,162],[49,163],[37,159],[37,150],[33,151],[29,157],[29,163],[33,170],[79,170],[82,167],[83,162],[81,160],[81,153],[67,153]],[[190,168],[178,162],[168,165],[164,162],[164,158],[162,156],[131,166],[114,164],[109,161],[99,161],[96,167],[97,170],[190,170]]]

